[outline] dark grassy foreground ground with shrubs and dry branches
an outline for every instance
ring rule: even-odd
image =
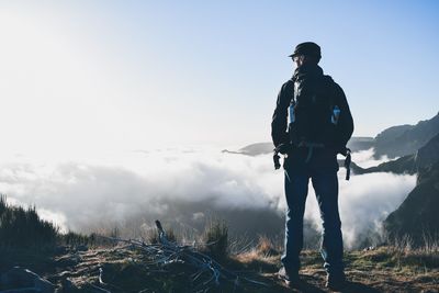
[[[168,238],[151,235],[142,240],[60,235],[40,219],[34,207],[9,206],[4,196],[0,206],[0,273],[4,277],[20,266],[50,282],[57,292],[329,292],[318,251],[303,251],[304,284],[292,291],[277,277],[282,248],[267,237],[254,245],[230,243],[224,223],[210,225],[201,241],[183,245],[176,243],[179,237],[171,232]],[[232,245],[236,251],[240,245],[240,251],[230,253]],[[347,251],[345,260],[349,284],[344,292],[426,293],[439,288],[437,244]],[[24,286],[5,284],[3,279],[0,290]]]

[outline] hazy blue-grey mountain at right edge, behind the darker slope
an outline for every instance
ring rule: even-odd
[[[415,154],[439,133],[439,113],[430,120],[420,121],[416,125],[399,125],[381,132],[375,137],[374,157],[390,158]]]

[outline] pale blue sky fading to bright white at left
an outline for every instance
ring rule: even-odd
[[[2,151],[270,140],[297,43],[356,136],[439,111],[438,1],[0,1]]]

